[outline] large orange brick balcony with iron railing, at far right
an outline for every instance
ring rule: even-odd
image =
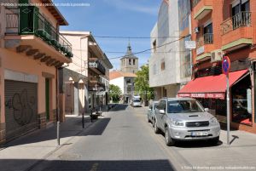
[[[241,12],[221,24],[222,50],[232,51],[253,44],[251,12]]]

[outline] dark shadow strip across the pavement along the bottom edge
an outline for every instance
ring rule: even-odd
[[[73,157],[75,155],[70,155]],[[79,156],[77,156],[79,157]],[[83,161],[74,158],[67,159],[64,161],[54,160],[47,161],[44,160],[40,162],[40,167],[43,166],[42,171],[59,171],[59,170],[77,170],[77,171],[90,171],[90,170],[111,170],[111,171],[145,171],[145,170],[157,170],[157,171],[172,171],[174,170],[172,164],[168,160],[134,160],[134,161]],[[1,171],[16,171],[16,170],[38,170],[39,167],[26,168],[27,163],[37,163],[37,160],[19,160],[19,159],[8,159],[2,160]],[[9,166],[7,164],[9,163]],[[15,163],[15,164],[12,164]],[[3,164],[3,165],[2,165]],[[35,164],[33,164],[35,166]],[[23,169],[22,169],[23,168]],[[34,168],[34,169],[33,169]],[[41,170],[41,168],[40,168]]]

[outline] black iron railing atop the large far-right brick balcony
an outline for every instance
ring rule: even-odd
[[[230,31],[236,30],[241,26],[251,26],[251,12],[243,11],[228,20],[224,20],[221,24],[222,34],[226,34]]]

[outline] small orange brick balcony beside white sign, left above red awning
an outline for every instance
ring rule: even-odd
[[[209,60],[211,58],[211,52],[214,50],[213,34],[206,33],[202,37],[199,37],[196,41],[196,46],[195,60],[198,62]]]

